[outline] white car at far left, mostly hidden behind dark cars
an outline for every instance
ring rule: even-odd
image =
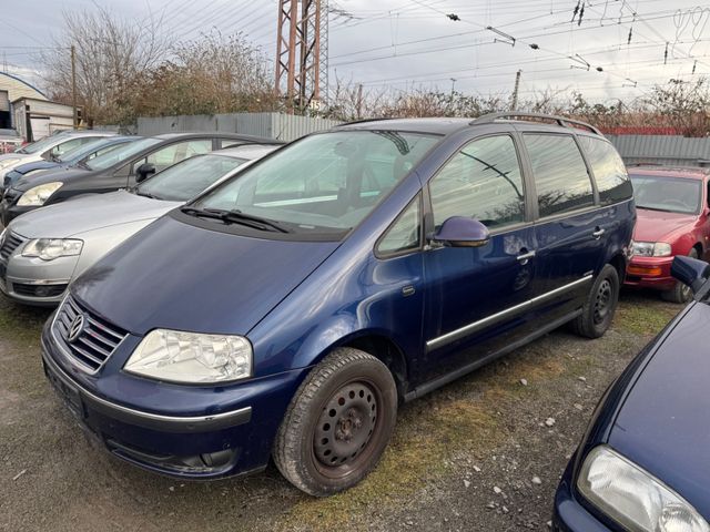
[[[45,136],[41,141],[28,144],[12,153],[0,155],[0,183],[6,173],[24,163],[33,163],[42,160],[59,157],[89,142],[105,136],[113,136],[110,131],[68,131],[55,135]]]

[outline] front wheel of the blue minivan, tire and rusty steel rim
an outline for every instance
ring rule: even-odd
[[[276,434],[274,461],[300,490],[332,495],[374,469],[396,418],[389,369],[361,350],[336,349],[298,387]]]

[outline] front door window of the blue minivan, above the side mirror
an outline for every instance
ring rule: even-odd
[[[508,135],[467,144],[429,183],[434,224],[452,216],[478,219],[488,228],[525,221],[525,190],[518,153]]]

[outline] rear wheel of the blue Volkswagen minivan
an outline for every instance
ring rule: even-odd
[[[619,303],[619,274],[610,264],[605,265],[595,279],[581,316],[572,323],[572,330],[585,338],[599,338],[611,326]]]

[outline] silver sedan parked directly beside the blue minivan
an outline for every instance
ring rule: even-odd
[[[29,305],[57,305],[69,284],[169,211],[278,147],[245,144],[187,158],[134,191],[98,194],[27,213],[0,234],[0,291]]]

